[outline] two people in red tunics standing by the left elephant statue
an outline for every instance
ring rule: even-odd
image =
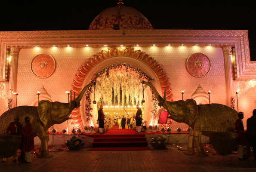
[[[20,150],[24,152],[25,158],[23,160],[24,163],[31,163],[31,154],[30,151],[34,150],[34,136],[33,136],[33,127],[30,123],[31,118],[25,117],[26,126],[22,127],[22,123],[19,122],[19,117],[14,117],[14,121],[9,124],[6,129],[7,135],[19,135],[22,136],[22,144],[20,146]],[[12,156],[12,161],[17,163],[16,160],[17,151]],[[7,158],[3,158],[1,163],[5,163]]]

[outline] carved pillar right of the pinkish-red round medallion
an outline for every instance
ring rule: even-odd
[[[232,69],[231,69],[232,47],[224,46],[222,47],[222,50],[224,52],[226,92],[227,92],[227,99],[228,99],[227,105],[231,107],[231,98],[234,97]]]

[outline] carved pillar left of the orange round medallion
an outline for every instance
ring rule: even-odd
[[[11,77],[9,81],[9,98],[12,99],[12,107],[16,107],[16,95],[12,92],[16,92],[17,89],[17,71],[18,71],[18,57],[20,48],[10,48],[11,57]]]

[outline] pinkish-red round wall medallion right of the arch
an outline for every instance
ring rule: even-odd
[[[191,54],[186,61],[188,72],[194,77],[204,77],[211,69],[210,59],[200,53]]]

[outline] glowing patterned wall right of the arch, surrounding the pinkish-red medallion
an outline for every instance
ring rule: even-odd
[[[139,47],[157,59],[159,64],[165,69],[172,86],[173,101],[181,100],[184,92],[184,100],[191,98],[198,85],[204,86],[204,90],[211,91],[211,103],[227,104],[224,55],[221,47],[212,46],[165,46],[165,47]],[[161,53],[159,53],[161,52]],[[194,52],[201,52],[207,55],[212,63],[211,71],[205,77],[193,77],[188,73],[185,62],[187,57]],[[184,123],[173,121],[172,127],[182,129],[188,126]]]

